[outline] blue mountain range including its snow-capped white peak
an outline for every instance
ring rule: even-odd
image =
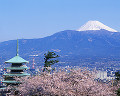
[[[1,58],[16,54],[16,40],[0,43]],[[20,39],[19,53],[28,58],[54,51],[64,56],[120,56],[120,32],[99,21],[89,21],[80,29],[65,30],[39,39]]]

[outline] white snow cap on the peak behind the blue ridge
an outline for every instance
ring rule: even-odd
[[[86,24],[81,26],[77,31],[87,31],[87,30],[101,30],[105,29],[111,32],[118,32],[99,21],[88,21]]]

